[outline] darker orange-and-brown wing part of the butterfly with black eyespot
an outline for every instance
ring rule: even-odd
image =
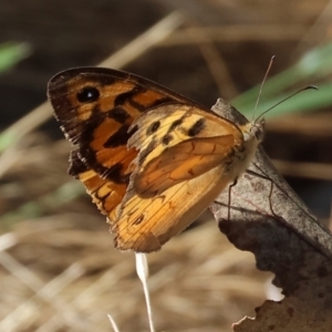
[[[131,124],[145,111],[184,97],[141,77],[96,68],[56,74],[48,94],[66,138],[77,145],[70,174],[114,220],[137,155],[136,148],[126,146]]]

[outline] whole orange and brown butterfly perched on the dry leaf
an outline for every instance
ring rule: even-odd
[[[106,215],[114,245],[152,252],[183,231],[249,166],[263,122],[237,125],[134,74],[58,73],[54,116],[74,145],[69,173]]]

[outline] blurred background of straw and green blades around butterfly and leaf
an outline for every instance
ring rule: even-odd
[[[249,118],[314,215],[331,221],[332,2],[328,0],[72,0],[0,6],[0,331],[147,331],[134,255],[113,248],[105,218],[66,175],[70,144],[45,102],[56,72],[122,69],[206,106]],[[209,220],[207,222],[207,220]],[[148,256],[157,331],[231,331],[267,298],[272,276],[204,214]]]

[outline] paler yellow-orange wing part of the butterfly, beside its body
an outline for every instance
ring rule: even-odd
[[[139,152],[113,231],[120,248],[154,251],[227,185],[224,175],[242,134],[227,120],[183,104],[148,111],[133,126],[128,147]]]

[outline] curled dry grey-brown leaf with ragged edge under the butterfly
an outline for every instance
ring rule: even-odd
[[[222,100],[214,111],[238,123],[245,117]],[[252,251],[260,270],[276,274],[284,299],[266,301],[237,332],[332,331],[332,237],[278,175],[262,147],[246,173],[210,207],[220,230]],[[228,218],[230,209],[230,218]]]

